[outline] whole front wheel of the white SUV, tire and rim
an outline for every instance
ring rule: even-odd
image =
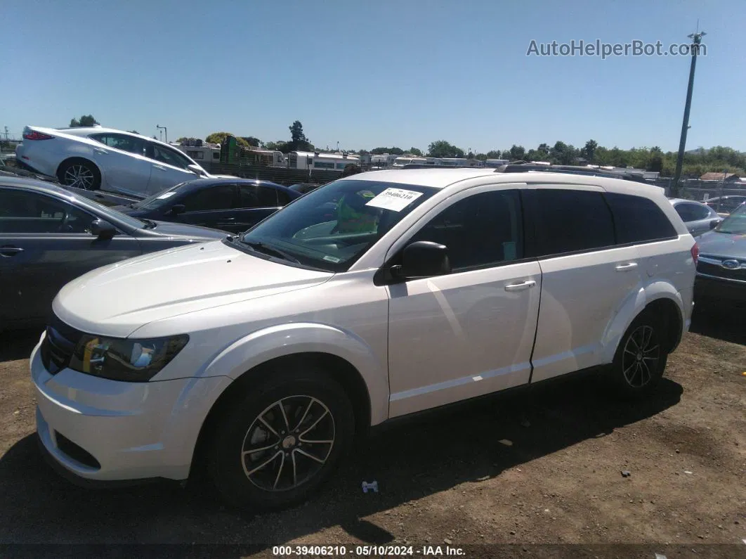
[[[313,367],[272,370],[216,422],[210,478],[236,508],[297,505],[329,478],[353,435],[352,405],[336,381]]]

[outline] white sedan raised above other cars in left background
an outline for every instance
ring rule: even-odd
[[[148,196],[210,176],[166,143],[113,128],[27,126],[16,148],[22,166],[57,177],[65,186]]]

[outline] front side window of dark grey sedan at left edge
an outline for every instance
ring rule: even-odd
[[[0,189],[0,233],[86,233],[94,219],[62,200]]]

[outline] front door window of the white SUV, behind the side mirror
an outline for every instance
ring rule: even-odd
[[[521,197],[518,190],[473,194],[434,217],[410,242],[448,247],[454,270],[491,266],[523,257]]]

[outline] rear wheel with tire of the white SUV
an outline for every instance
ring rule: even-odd
[[[665,322],[650,311],[633,320],[619,346],[611,366],[615,392],[621,396],[650,393],[663,376],[668,361]]]

